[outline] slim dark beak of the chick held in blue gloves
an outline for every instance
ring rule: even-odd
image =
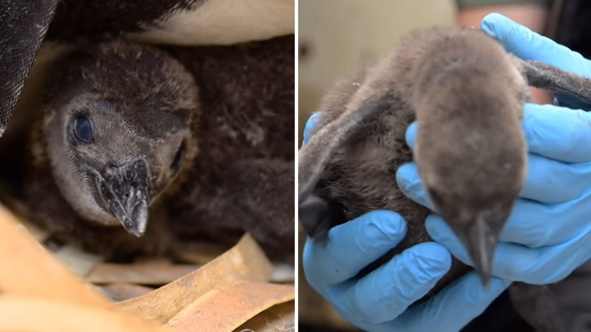
[[[500,230],[491,227],[485,219],[478,218],[476,222],[462,229],[456,235],[465,246],[468,255],[472,258],[476,272],[485,288],[491,283],[492,259],[495,246],[498,242]]]

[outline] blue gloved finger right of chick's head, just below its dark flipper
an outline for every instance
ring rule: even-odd
[[[565,162],[591,161],[591,115],[554,105],[525,104],[528,151]]]

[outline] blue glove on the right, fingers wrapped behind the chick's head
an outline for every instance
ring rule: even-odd
[[[591,76],[591,63],[580,54],[502,15],[488,15],[482,30],[524,60],[540,60]],[[573,101],[557,96],[560,105],[573,105]],[[528,176],[496,247],[492,274],[548,284],[565,278],[591,258],[591,113],[527,104],[523,129],[529,150]],[[407,131],[410,147],[414,147],[416,130],[413,124]],[[397,180],[410,198],[430,207],[414,163],[402,165]],[[436,242],[461,261],[472,263],[441,217],[431,215],[426,224]]]

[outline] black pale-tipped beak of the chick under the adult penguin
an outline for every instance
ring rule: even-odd
[[[137,159],[118,167],[108,167],[97,178],[103,207],[132,235],[144,235],[148,224],[148,167]]]

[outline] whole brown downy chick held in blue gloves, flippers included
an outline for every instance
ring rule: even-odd
[[[460,28],[411,32],[387,58],[337,82],[298,156],[300,219],[310,236],[326,240],[330,227],[372,210],[400,213],[407,236],[359,276],[431,240],[424,227],[430,211],[396,181],[398,167],[413,158],[405,132],[416,119],[414,157],[424,186],[486,282],[498,235],[525,181],[519,119],[528,84],[591,100],[588,79],[519,60],[483,32]],[[468,270],[454,260],[427,296]],[[513,288],[515,306],[532,325],[568,330],[550,293],[535,285]],[[544,308],[552,325],[536,324],[529,308]]]

